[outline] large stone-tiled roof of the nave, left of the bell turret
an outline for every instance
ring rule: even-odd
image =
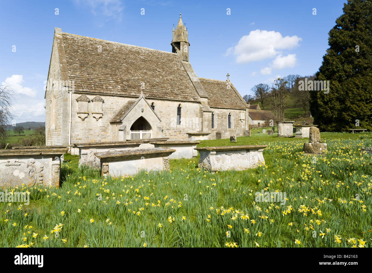
[[[76,91],[200,101],[177,53],[61,33]],[[141,90],[141,85],[144,88]]]

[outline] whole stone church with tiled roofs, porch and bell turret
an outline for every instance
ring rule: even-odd
[[[55,28],[45,90],[46,145],[242,136],[249,105],[229,79],[199,78],[181,16],[172,52]]]

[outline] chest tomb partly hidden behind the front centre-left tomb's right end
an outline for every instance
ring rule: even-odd
[[[189,140],[168,140],[168,141],[153,141],[155,147],[166,147],[176,150],[169,158],[192,158],[198,156],[198,152],[194,150],[200,141]]]

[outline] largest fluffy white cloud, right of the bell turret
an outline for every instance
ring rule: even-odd
[[[274,58],[280,50],[298,46],[301,40],[296,35],[283,37],[280,32],[256,29],[240,38],[236,46],[227,49],[226,55],[235,55],[237,63],[260,61]]]

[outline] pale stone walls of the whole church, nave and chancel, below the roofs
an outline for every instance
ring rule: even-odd
[[[108,142],[108,141],[122,141],[129,139],[129,130],[131,124],[127,123],[113,123],[110,124],[110,120],[118,113],[128,101],[136,100],[137,98],[115,96],[115,95],[103,95],[99,96],[104,101],[102,103],[102,117],[98,120],[93,117],[93,103],[88,102],[88,116],[82,120],[78,116],[78,102],[76,99],[80,97],[82,93],[74,92],[72,94],[72,109],[71,109],[71,143],[80,142]],[[96,97],[96,94],[84,94],[89,100]],[[58,103],[56,103],[56,121],[55,129],[51,127],[51,107],[48,105],[51,92],[47,92],[47,112],[46,112],[46,127],[47,127],[47,145],[68,145],[68,134],[69,134],[69,116],[62,117],[61,109],[68,113],[70,98],[67,91],[64,94],[60,92],[58,94]],[[144,116],[148,122],[153,126],[153,137],[168,137],[170,140],[188,140],[186,133],[198,132],[202,130],[202,118],[201,115],[201,104],[199,102],[189,101],[173,101],[173,100],[161,100],[161,99],[147,99],[147,102],[151,105],[155,105],[155,113],[161,119],[158,123],[156,116],[152,111],[145,106]],[[181,124],[177,125],[177,107],[181,104]],[[138,107],[137,107],[138,108]],[[139,108],[139,109],[140,109]],[[134,108],[134,112],[129,112],[128,118],[135,119],[138,114],[138,109]],[[212,109],[214,112],[214,129],[210,128],[209,131],[212,133],[209,135],[209,139],[216,138],[216,132],[221,132],[221,138],[228,138],[231,135],[243,136],[243,132],[246,129],[245,121],[245,110],[231,110],[231,109]],[[231,129],[228,129],[228,114],[231,113]],[[211,113],[204,113],[210,116]],[[137,116],[136,116],[137,115]],[[58,116],[58,118],[57,118]],[[133,116],[133,117],[132,117]],[[242,121],[240,120],[243,117]],[[128,119],[126,118],[126,119]],[[132,123],[135,120],[132,120]],[[119,129],[123,129],[122,125],[126,126],[125,135],[120,133]],[[210,123],[209,123],[210,124]],[[160,127],[160,128],[159,128]],[[161,132],[161,130],[163,132]],[[204,129],[205,130],[205,129]]]

